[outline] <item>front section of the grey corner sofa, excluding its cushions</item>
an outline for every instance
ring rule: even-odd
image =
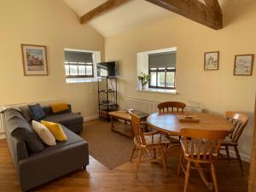
[[[4,113],[4,126],[9,151],[20,178],[22,191],[32,189],[89,165],[88,143],[65,126],[62,128],[67,136],[67,142],[57,143],[56,146],[50,147],[44,145],[43,150],[31,153],[26,142],[12,136],[11,130],[13,130],[13,126],[19,125],[19,121],[22,121],[23,126],[31,126],[22,115],[18,114],[20,112],[13,110],[9,109]],[[6,118],[7,116],[8,118]]]

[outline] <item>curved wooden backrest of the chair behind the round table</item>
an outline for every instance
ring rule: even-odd
[[[161,102],[157,108],[159,113],[183,112],[186,104],[183,102]]]

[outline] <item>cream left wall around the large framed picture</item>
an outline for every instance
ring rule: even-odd
[[[47,46],[48,76],[23,75],[20,44]],[[0,105],[56,99],[85,117],[96,115],[96,83],[66,83],[64,48],[99,50],[104,58],[104,38],[80,25],[62,0],[1,1]]]

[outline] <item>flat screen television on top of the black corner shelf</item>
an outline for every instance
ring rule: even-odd
[[[97,77],[98,78],[108,78],[115,77],[116,74],[116,62],[99,62],[96,64]]]

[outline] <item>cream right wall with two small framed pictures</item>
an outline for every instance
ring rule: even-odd
[[[186,102],[212,113],[247,113],[250,122],[240,140],[241,154],[247,159],[252,146],[256,63],[251,77],[233,76],[233,66],[235,55],[256,54],[255,23],[256,2],[234,0],[224,4],[224,29],[219,31],[177,15],[106,38],[106,61],[120,63],[121,103],[125,97],[135,97]],[[170,47],[177,47],[177,95],[137,91],[137,53]],[[219,70],[204,71],[204,52],[212,50],[220,51]]]

